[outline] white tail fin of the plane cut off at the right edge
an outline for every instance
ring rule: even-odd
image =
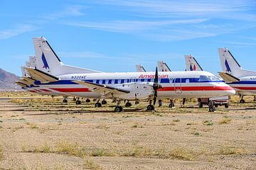
[[[242,69],[228,48],[219,48],[218,52],[223,72],[227,72],[228,74],[231,74],[235,77],[247,77],[251,76],[252,74],[256,74],[256,72]]]

